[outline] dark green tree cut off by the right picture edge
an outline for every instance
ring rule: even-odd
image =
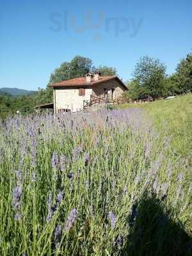
[[[172,80],[176,93],[192,92],[192,54],[180,61]]]

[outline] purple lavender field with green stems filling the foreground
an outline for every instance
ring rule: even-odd
[[[0,255],[191,255],[172,140],[141,108],[0,121]]]

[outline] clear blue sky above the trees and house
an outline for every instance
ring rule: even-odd
[[[192,1],[1,0],[0,88],[45,88],[61,62],[81,55],[131,79],[141,56],[174,72],[192,48]]]

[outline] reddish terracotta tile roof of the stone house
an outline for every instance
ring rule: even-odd
[[[70,79],[67,81],[62,81],[60,83],[51,84],[51,87],[65,87],[65,86],[81,87],[81,86],[93,86],[93,85],[95,86],[97,84],[100,84],[100,83],[103,83],[106,81],[110,81],[112,79],[118,80],[118,82],[121,83],[122,86],[124,86],[127,89],[125,84],[117,76],[101,76],[101,77],[99,77],[98,81],[92,80],[90,83],[86,82],[86,77],[77,77],[77,78]]]

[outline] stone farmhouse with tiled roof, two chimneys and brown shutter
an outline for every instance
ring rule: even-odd
[[[60,83],[51,84],[53,88],[54,113],[83,110],[83,102],[92,97],[115,100],[127,87],[117,76],[87,74]]]

